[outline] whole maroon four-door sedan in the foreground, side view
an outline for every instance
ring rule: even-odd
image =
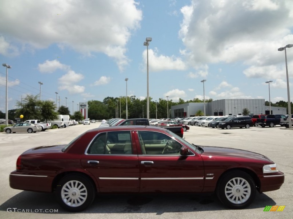
[[[68,211],[82,211],[99,193],[215,192],[230,208],[245,208],[256,192],[279,189],[284,173],[269,158],[190,144],[165,128],[112,126],[88,130],[68,145],[21,154],[11,188],[55,192]]]

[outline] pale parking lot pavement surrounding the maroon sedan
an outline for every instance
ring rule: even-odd
[[[293,129],[280,126],[229,130],[190,126],[190,130],[184,132],[185,140],[196,145],[233,147],[263,154],[285,173],[285,183],[280,190],[257,194],[253,204],[242,210],[225,208],[214,195],[111,194],[97,196],[93,204],[81,213],[69,213],[59,207],[53,194],[9,187],[9,173],[15,169],[16,159],[22,152],[42,145],[67,144],[77,135],[99,124],[76,125],[30,134],[0,133],[0,218],[292,218]],[[282,212],[264,212],[268,205],[285,208]],[[46,209],[57,209],[58,213],[41,212]],[[23,210],[30,212],[24,213]]]

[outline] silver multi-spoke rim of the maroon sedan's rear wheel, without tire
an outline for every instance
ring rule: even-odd
[[[71,207],[78,207],[84,204],[87,196],[85,185],[77,180],[68,181],[61,190],[63,202]]]

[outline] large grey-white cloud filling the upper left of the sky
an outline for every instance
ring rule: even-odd
[[[137,5],[134,0],[3,0],[1,32],[35,49],[57,44],[84,55],[105,53],[122,70],[128,63],[125,46],[142,20]]]

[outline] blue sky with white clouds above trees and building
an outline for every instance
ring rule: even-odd
[[[292,0],[2,0],[0,60],[8,110],[39,95],[76,111],[79,102],[149,96],[287,102],[285,51]],[[287,48],[293,101],[293,47]],[[204,83],[201,80],[206,79]],[[38,82],[42,82],[40,85]],[[58,94],[56,94],[57,92]],[[67,98],[66,98],[67,97]],[[5,112],[6,67],[0,68]]]

